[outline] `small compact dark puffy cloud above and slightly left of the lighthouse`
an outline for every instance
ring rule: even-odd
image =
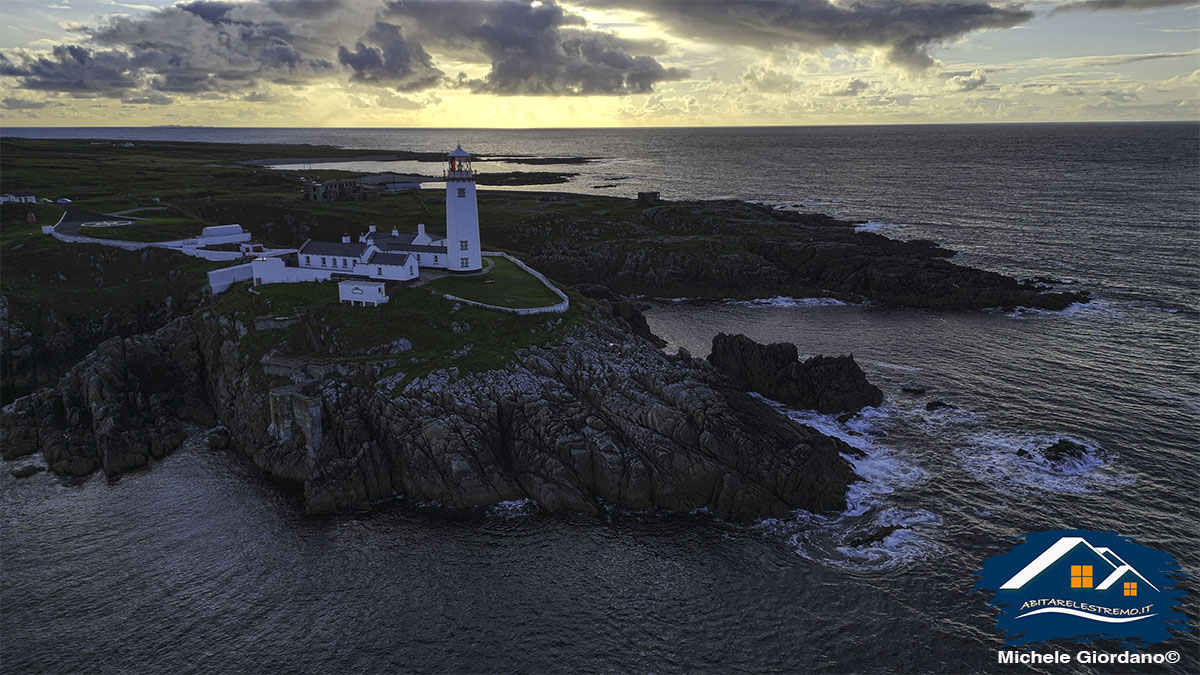
[[[350,79],[386,84],[401,91],[427,89],[442,79],[432,59],[419,43],[404,40],[400,26],[384,22],[367,31],[367,43],[359,42],[354,50],[337,48],[337,61],[354,71]]]

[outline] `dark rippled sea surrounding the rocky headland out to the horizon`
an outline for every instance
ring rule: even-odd
[[[780,407],[862,452],[839,514],[308,518],[202,443],[113,482],[6,471],[6,671],[979,670],[1001,639],[972,572],[1010,537],[1064,527],[1175,555],[1194,631],[1195,124],[5,133],[594,157],[536,171],[580,173],[552,190],[833,213],[1094,297],[1062,312],[653,303],[668,351],[702,357],[738,331],[854,354],[882,406],[846,423]],[[1058,438],[1086,455],[1016,455]],[[1177,638],[1183,661],[1156,668],[1195,671],[1195,647]]]

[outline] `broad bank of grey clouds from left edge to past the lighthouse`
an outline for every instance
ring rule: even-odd
[[[187,0],[110,16],[50,53],[0,52],[17,86],[138,103],[245,94],[264,83],[349,82],[398,91],[446,82],[426,46],[490,72],[475,91],[635,94],[686,73],[659,40],[590,30],[553,1]],[[148,92],[162,97],[150,100]]]

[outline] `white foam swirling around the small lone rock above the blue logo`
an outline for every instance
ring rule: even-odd
[[[1036,452],[1060,438],[1079,443],[1086,452],[1079,459],[1050,461]],[[955,455],[977,480],[1009,495],[1032,491],[1086,495],[1128,485],[1133,476],[1117,472],[1115,456],[1096,443],[1062,435],[1026,431],[979,431],[967,436],[967,446]],[[1019,450],[1028,454],[1020,456]]]

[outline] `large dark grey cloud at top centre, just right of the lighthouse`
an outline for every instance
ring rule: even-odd
[[[412,22],[422,41],[475,53],[491,62],[475,91],[523,95],[620,95],[653,91],[686,73],[631,49],[660,44],[588,30],[583,17],[554,2],[415,0],[390,2],[388,13]]]

